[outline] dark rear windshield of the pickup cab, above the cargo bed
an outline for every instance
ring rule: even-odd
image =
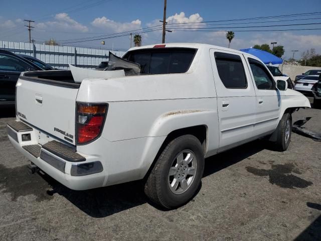
[[[196,49],[190,48],[142,49],[123,59],[140,64],[141,74],[174,74],[188,71],[195,53]]]

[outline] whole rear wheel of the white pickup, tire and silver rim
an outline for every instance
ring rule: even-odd
[[[165,208],[177,208],[188,202],[201,184],[204,153],[200,141],[192,135],[171,141],[151,170],[145,194]]]

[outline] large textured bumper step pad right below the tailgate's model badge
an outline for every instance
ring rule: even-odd
[[[84,162],[86,158],[76,153],[76,148],[72,148],[57,141],[51,141],[42,146],[46,151],[69,162]]]

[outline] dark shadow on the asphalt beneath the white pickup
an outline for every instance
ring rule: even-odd
[[[254,141],[215,157],[207,158],[205,162],[204,177],[244,160],[263,150],[263,147],[266,147],[266,145],[263,145],[262,141]],[[165,211],[161,207],[149,202],[144,195],[142,181],[134,181],[86,191],[74,191],[63,186],[48,175],[42,176],[52,187],[51,191],[47,191],[48,195],[54,195],[55,193],[62,195],[80,210],[92,217],[106,217],[142,205],[146,202],[159,210]],[[197,195],[197,193],[195,195]]]

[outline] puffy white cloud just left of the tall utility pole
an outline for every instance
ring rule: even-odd
[[[141,28],[141,21],[139,19],[130,23],[120,23],[107,19],[106,17],[96,18],[91,22],[91,25],[96,28],[103,28],[112,32],[126,32],[129,30],[136,30]]]

